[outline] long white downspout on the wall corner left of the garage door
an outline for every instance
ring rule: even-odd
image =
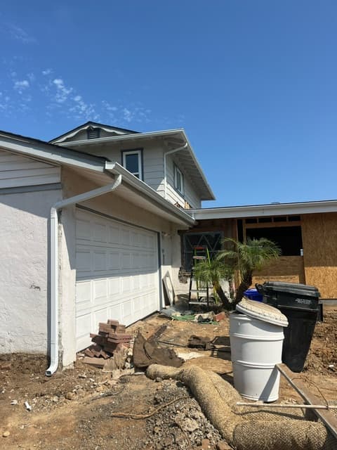
[[[51,207],[51,364],[46,370],[47,376],[53,375],[58,370],[58,211],[63,207],[114,191],[120,184],[121,175],[117,176],[112,184],[60,200]]]

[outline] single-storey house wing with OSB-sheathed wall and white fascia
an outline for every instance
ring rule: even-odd
[[[225,237],[269,238],[282,256],[262,271],[264,281],[305,283],[319,289],[322,299],[337,298],[337,200],[272,203],[189,210],[197,224],[183,231],[183,266],[190,270],[193,245],[220,250]]]

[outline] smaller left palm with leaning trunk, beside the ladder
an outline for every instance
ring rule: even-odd
[[[213,289],[218,294],[220,301],[225,309],[230,309],[230,299],[225,295],[221,286],[222,280],[229,280],[232,278],[232,267],[224,264],[220,259],[204,259],[199,261],[194,266],[194,276],[197,281],[212,285]]]

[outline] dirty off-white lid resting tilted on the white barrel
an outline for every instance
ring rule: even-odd
[[[246,314],[246,316],[253,317],[253,319],[259,319],[260,321],[273,323],[274,325],[288,326],[286,316],[279,309],[270,306],[270,304],[254,302],[254,300],[243,298],[237,304],[236,309]]]

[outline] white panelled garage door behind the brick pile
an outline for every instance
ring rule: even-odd
[[[98,323],[129,325],[159,309],[157,233],[77,209],[77,351]]]

